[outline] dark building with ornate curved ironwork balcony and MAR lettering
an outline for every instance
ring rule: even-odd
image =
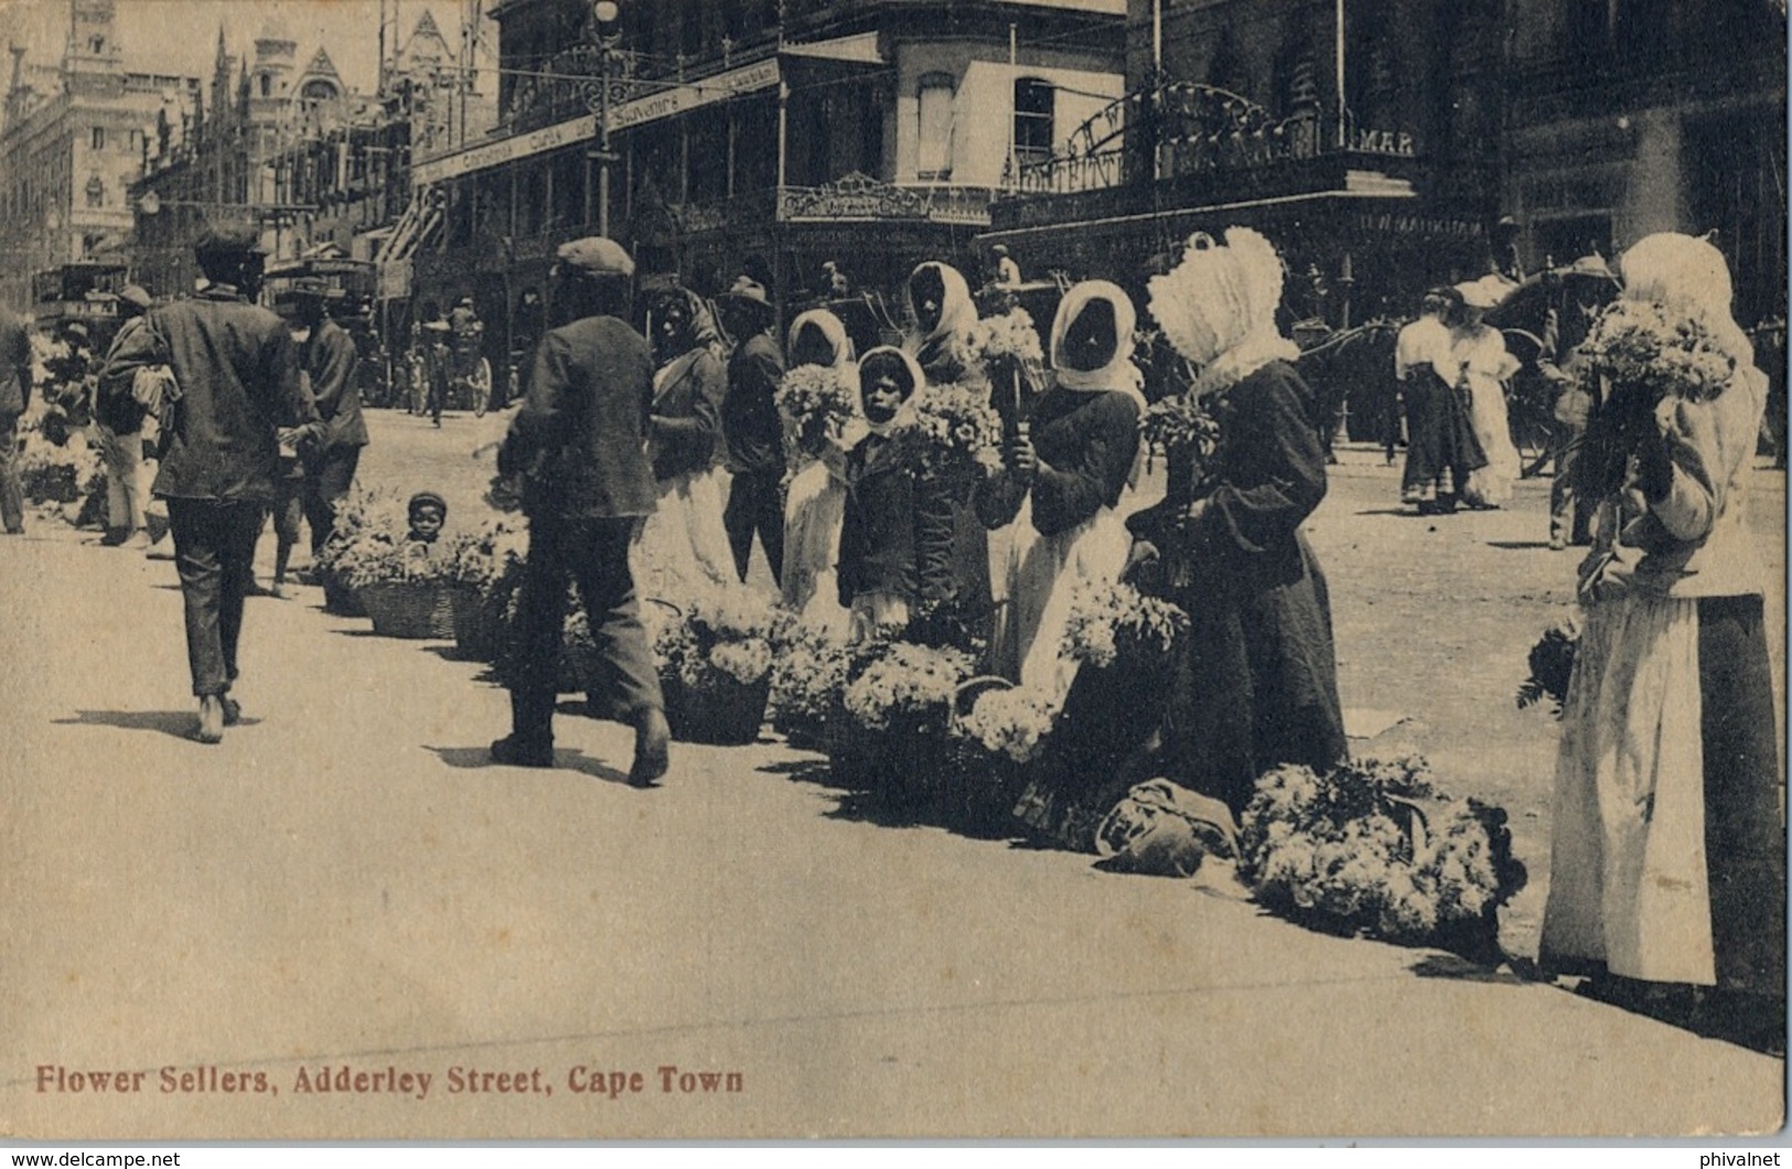
[[[1253,226],[1296,316],[1344,325],[1486,271],[1500,0],[1131,0],[1127,93],[1023,163],[987,242],[1142,290],[1193,231]],[[1342,23],[1340,23],[1342,18]]]

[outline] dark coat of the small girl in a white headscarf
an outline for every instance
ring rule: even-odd
[[[919,479],[878,436],[846,455],[846,515],[840,520],[840,604],[889,592],[909,601],[957,595],[952,556],[952,497],[941,481]]]

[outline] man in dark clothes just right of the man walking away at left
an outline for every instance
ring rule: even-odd
[[[326,312],[328,289],[323,281],[301,281],[294,294],[296,321],[306,330],[299,342],[299,364],[310,378],[317,416],[324,421],[323,437],[303,455],[301,498],[315,561],[335,531],[335,509],[355,482],[360,450],[367,445],[367,421],[355,385],[355,339]]]

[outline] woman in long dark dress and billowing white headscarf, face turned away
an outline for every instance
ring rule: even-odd
[[[1235,814],[1263,771],[1324,771],[1346,753],[1326,581],[1301,534],[1326,495],[1326,454],[1315,394],[1290,364],[1299,350],[1276,332],[1281,274],[1269,240],[1233,228],[1226,246],[1195,235],[1150,280],[1150,314],[1201,369],[1190,393],[1220,430],[1213,455],[1131,520],[1190,617],[1167,696],[1167,773]]]

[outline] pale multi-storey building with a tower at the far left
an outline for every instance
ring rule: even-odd
[[[131,183],[181,145],[199,79],[125,68],[113,0],[73,0],[57,68],[13,48],[0,129],[0,299],[25,305],[30,274],[118,253]]]

